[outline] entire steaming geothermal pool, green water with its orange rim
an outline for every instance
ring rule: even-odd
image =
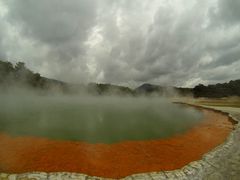
[[[122,178],[199,160],[229,117],[159,98],[0,96],[0,172]]]

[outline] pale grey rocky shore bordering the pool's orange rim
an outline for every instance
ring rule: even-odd
[[[227,108],[202,106],[222,113],[227,113],[236,122],[240,121],[240,112]],[[201,160],[191,162],[181,169],[174,171],[150,172],[134,174],[122,179],[239,179],[240,177],[240,124],[234,126],[225,143],[206,153]],[[80,173],[44,173],[31,172],[23,174],[0,173],[0,180],[9,179],[109,179],[88,176]]]

